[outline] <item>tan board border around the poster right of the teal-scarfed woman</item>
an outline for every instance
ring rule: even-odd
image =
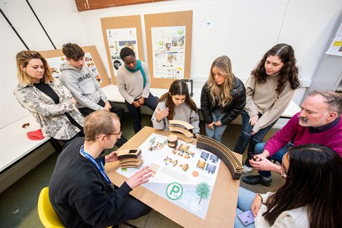
[[[191,43],[192,43],[192,11],[173,13],[147,14],[145,17],[145,30],[147,42],[148,67],[150,69],[152,88],[169,88],[175,79],[162,79],[154,75],[154,53],[152,50],[152,31],[154,27],[185,26],[185,64],[184,79],[190,79]]]

